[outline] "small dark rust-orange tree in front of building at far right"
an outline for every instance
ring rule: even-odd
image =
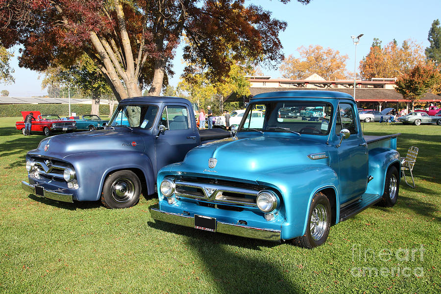
[[[440,69],[431,64],[418,64],[409,73],[402,74],[395,82],[395,91],[414,104],[435,84],[441,82]]]

